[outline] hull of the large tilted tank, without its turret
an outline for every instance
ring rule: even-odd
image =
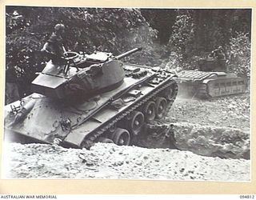
[[[120,130],[127,130],[129,141],[132,140],[138,136],[134,128],[141,120],[138,113],[147,116],[143,113],[144,106],[148,102],[158,105],[159,99],[165,98],[162,103],[167,102],[170,107],[178,88],[174,74],[164,70],[136,65],[123,67],[126,77],[122,82],[112,90],[95,90],[89,98],[64,101],[34,93],[5,106],[6,137],[11,133],[37,142],[90,148],[100,138],[123,142],[126,134],[120,134]],[[117,139],[117,135],[122,137]]]

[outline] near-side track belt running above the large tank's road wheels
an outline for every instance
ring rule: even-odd
[[[172,104],[178,94],[178,84],[172,78],[170,79],[170,82],[166,82],[166,84],[164,86],[161,86],[160,88],[158,88],[157,90],[152,92],[150,95],[146,96],[144,99],[142,99],[142,101],[137,102],[136,104],[131,106],[128,110],[124,110],[122,112],[122,114],[119,114],[118,116],[116,116],[113,120],[111,120],[111,122],[107,123],[106,125],[103,125],[98,130],[95,130],[93,133],[86,136],[80,147],[90,149],[90,147],[93,146],[96,139],[99,138],[102,134],[104,134],[104,132],[106,132],[106,130],[109,130],[110,127],[114,126],[115,123],[121,121],[122,118],[125,118],[132,111],[138,109],[138,107],[140,107],[143,104],[145,104],[146,102],[150,101],[151,98],[154,98],[157,94],[161,93],[163,90],[165,90],[166,88],[168,88],[170,86],[173,86],[173,93],[172,93],[173,96],[172,96],[171,100],[168,101],[166,112],[168,110],[170,110],[170,107],[172,106]]]

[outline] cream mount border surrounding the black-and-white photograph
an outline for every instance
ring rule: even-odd
[[[251,79],[250,79],[250,158],[251,158],[251,182],[189,182],[189,181],[158,181],[158,180],[116,180],[116,179],[1,179],[0,194],[256,194],[256,137],[254,135],[255,94],[254,94],[254,33],[255,33],[255,7],[254,0],[77,0],[52,1],[38,0],[2,0],[0,1],[2,16],[0,34],[1,38],[1,91],[5,92],[5,6],[63,6],[63,7],[133,7],[133,8],[251,8],[252,9],[252,52],[251,52]],[[0,98],[0,110],[3,116],[4,95]],[[3,117],[0,146],[3,146]],[[1,161],[2,161],[2,148]],[[2,162],[0,166],[2,170]]]

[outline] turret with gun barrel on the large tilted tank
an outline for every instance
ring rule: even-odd
[[[69,52],[60,63],[46,64],[42,73],[32,82],[32,91],[50,98],[84,98],[120,86],[125,72],[120,59],[142,48],[114,56],[95,52],[78,54]]]

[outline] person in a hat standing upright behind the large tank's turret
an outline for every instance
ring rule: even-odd
[[[63,24],[57,24],[54,26],[54,33],[46,41],[42,47],[42,52],[50,54],[53,62],[62,60],[62,57],[66,56],[66,49],[63,46],[63,36],[65,34],[65,26]]]

